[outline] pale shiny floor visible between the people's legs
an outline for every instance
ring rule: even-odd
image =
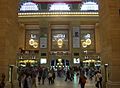
[[[78,78],[76,76],[74,76],[74,80],[73,81],[65,81],[65,78],[59,78],[57,77],[55,79],[55,83],[54,84],[50,84],[48,83],[48,80],[45,80],[45,84],[42,85],[38,85],[37,83],[37,88],[81,88],[80,85],[78,84]],[[85,88],[96,88],[95,84],[94,84],[94,80],[90,81],[89,79],[87,79]]]

